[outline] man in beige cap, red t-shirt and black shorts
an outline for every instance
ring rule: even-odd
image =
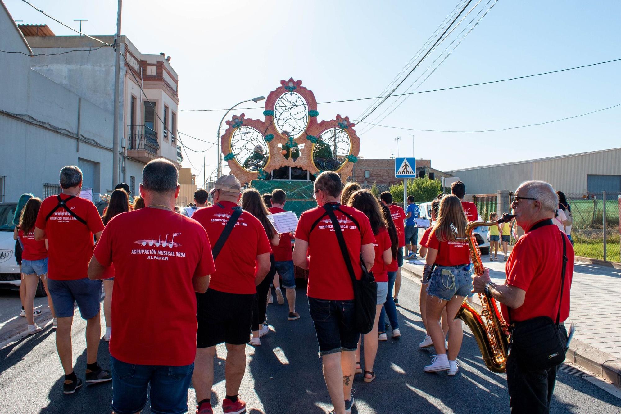
[[[209,289],[197,296],[198,333],[192,382],[199,413],[211,410],[215,346],[221,343],[226,343],[227,347],[226,395],[222,409],[224,413],[242,413],[246,408],[237,393],[246,369],[245,347],[250,341],[256,285],[270,271],[271,247],[261,222],[242,211],[222,249],[217,251],[222,231],[240,208],[237,202],[241,188],[234,175],[222,175],[212,190],[214,205],[201,208],[192,216],[206,229],[216,256],[216,270]]]

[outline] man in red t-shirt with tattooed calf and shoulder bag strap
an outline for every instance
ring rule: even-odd
[[[356,367],[355,351],[360,334],[352,328],[355,315],[351,276],[332,220],[324,206],[333,209],[340,223],[351,265],[358,279],[362,277],[361,255],[366,269],[373,267],[375,237],[365,214],[339,204],[342,188],[341,178],[332,171],[320,173],[315,180],[313,197],[317,199],[317,208],[304,211],[300,216],[293,262],[302,269],[309,269],[309,308],[332,405],[337,413],[350,413],[353,405],[351,385]],[[309,250],[310,257],[307,255]]]

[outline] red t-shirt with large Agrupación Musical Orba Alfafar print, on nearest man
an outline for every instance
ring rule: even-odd
[[[196,356],[194,276],[214,273],[202,226],[174,211],[142,208],[109,221],[95,248],[114,263],[110,354],[128,364],[182,366]]]

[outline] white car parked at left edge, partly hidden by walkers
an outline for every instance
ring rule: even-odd
[[[19,290],[22,278],[15,260],[15,241],[13,240],[13,216],[17,202],[0,203],[0,288]],[[39,280],[37,297],[47,296],[43,283]]]

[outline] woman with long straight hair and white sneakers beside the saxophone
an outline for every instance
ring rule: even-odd
[[[427,287],[427,331],[433,341],[437,356],[425,367],[425,372],[448,370],[455,375],[458,370],[457,354],[460,351],[463,331],[461,320],[454,320],[464,298],[471,295],[470,249],[466,242],[466,216],[461,201],[455,195],[444,196],[440,201],[438,221],[427,242],[425,275],[433,269]],[[449,320],[448,349],[440,324],[446,308]]]

